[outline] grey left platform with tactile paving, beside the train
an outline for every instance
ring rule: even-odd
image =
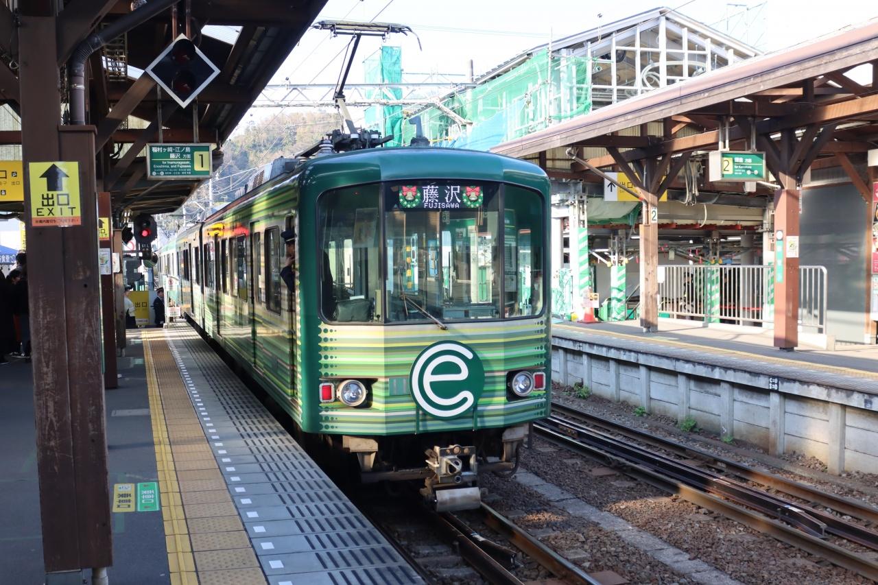
[[[111,583],[421,582],[188,325],[135,332],[119,366]],[[2,376],[0,574],[41,583],[31,367]]]

